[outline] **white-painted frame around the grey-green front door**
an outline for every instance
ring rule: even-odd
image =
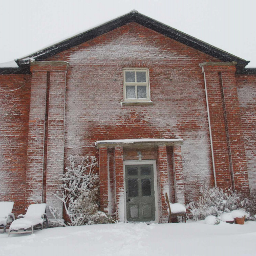
[[[152,221],[150,223],[159,223],[159,207],[158,207],[158,187],[157,187],[157,163],[156,160],[124,160],[123,161],[123,182],[124,182],[124,220],[127,222],[126,218],[126,182],[125,182],[125,165],[138,165],[138,164],[153,164],[153,170],[154,170],[154,189],[155,189],[155,221]]]

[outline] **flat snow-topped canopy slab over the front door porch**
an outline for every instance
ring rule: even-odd
[[[99,140],[95,142],[95,145],[100,146],[154,146],[154,145],[181,145],[183,139],[125,139],[125,140]]]

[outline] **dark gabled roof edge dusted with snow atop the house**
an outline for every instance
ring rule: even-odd
[[[206,53],[212,57],[218,58],[223,61],[231,62],[236,61],[237,70],[243,69],[250,61],[234,56],[228,52],[225,52],[219,48],[211,46],[206,42],[203,42],[195,37],[187,35],[179,30],[171,28],[167,25],[164,25],[157,20],[154,20],[150,17],[147,17],[137,11],[133,10],[130,13],[127,13],[123,16],[120,16],[116,19],[111,20],[110,22],[104,23],[96,28],[88,30],[86,32],[80,33],[76,36],[73,36],[69,39],[58,42],[57,44],[42,49],[38,52],[30,54],[29,56],[16,59],[16,63],[20,68],[28,69],[29,60],[35,59],[36,61],[44,60],[49,58],[57,53],[68,50],[72,47],[82,44],[88,40],[91,40],[97,36],[108,33],[114,29],[117,29],[123,25],[129,24],[131,22],[138,23],[146,28],[152,29],[158,33],[161,33],[169,38],[172,38],[176,41],[181,42],[184,45],[192,47],[196,50],[199,50],[203,53]]]

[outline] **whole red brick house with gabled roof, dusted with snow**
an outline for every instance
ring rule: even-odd
[[[256,69],[136,11],[0,68],[0,201],[62,205],[69,155],[96,155],[100,203],[165,222],[164,193],[248,193],[256,182]]]

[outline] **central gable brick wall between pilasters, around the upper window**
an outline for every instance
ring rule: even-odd
[[[70,63],[65,159],[97,154],[97,140],[181,137],[186,200],[213,183],[199,63],[217,59],[131,23],[48,60]],[[126,67],[149,69],[153,106],[121,106]]]

